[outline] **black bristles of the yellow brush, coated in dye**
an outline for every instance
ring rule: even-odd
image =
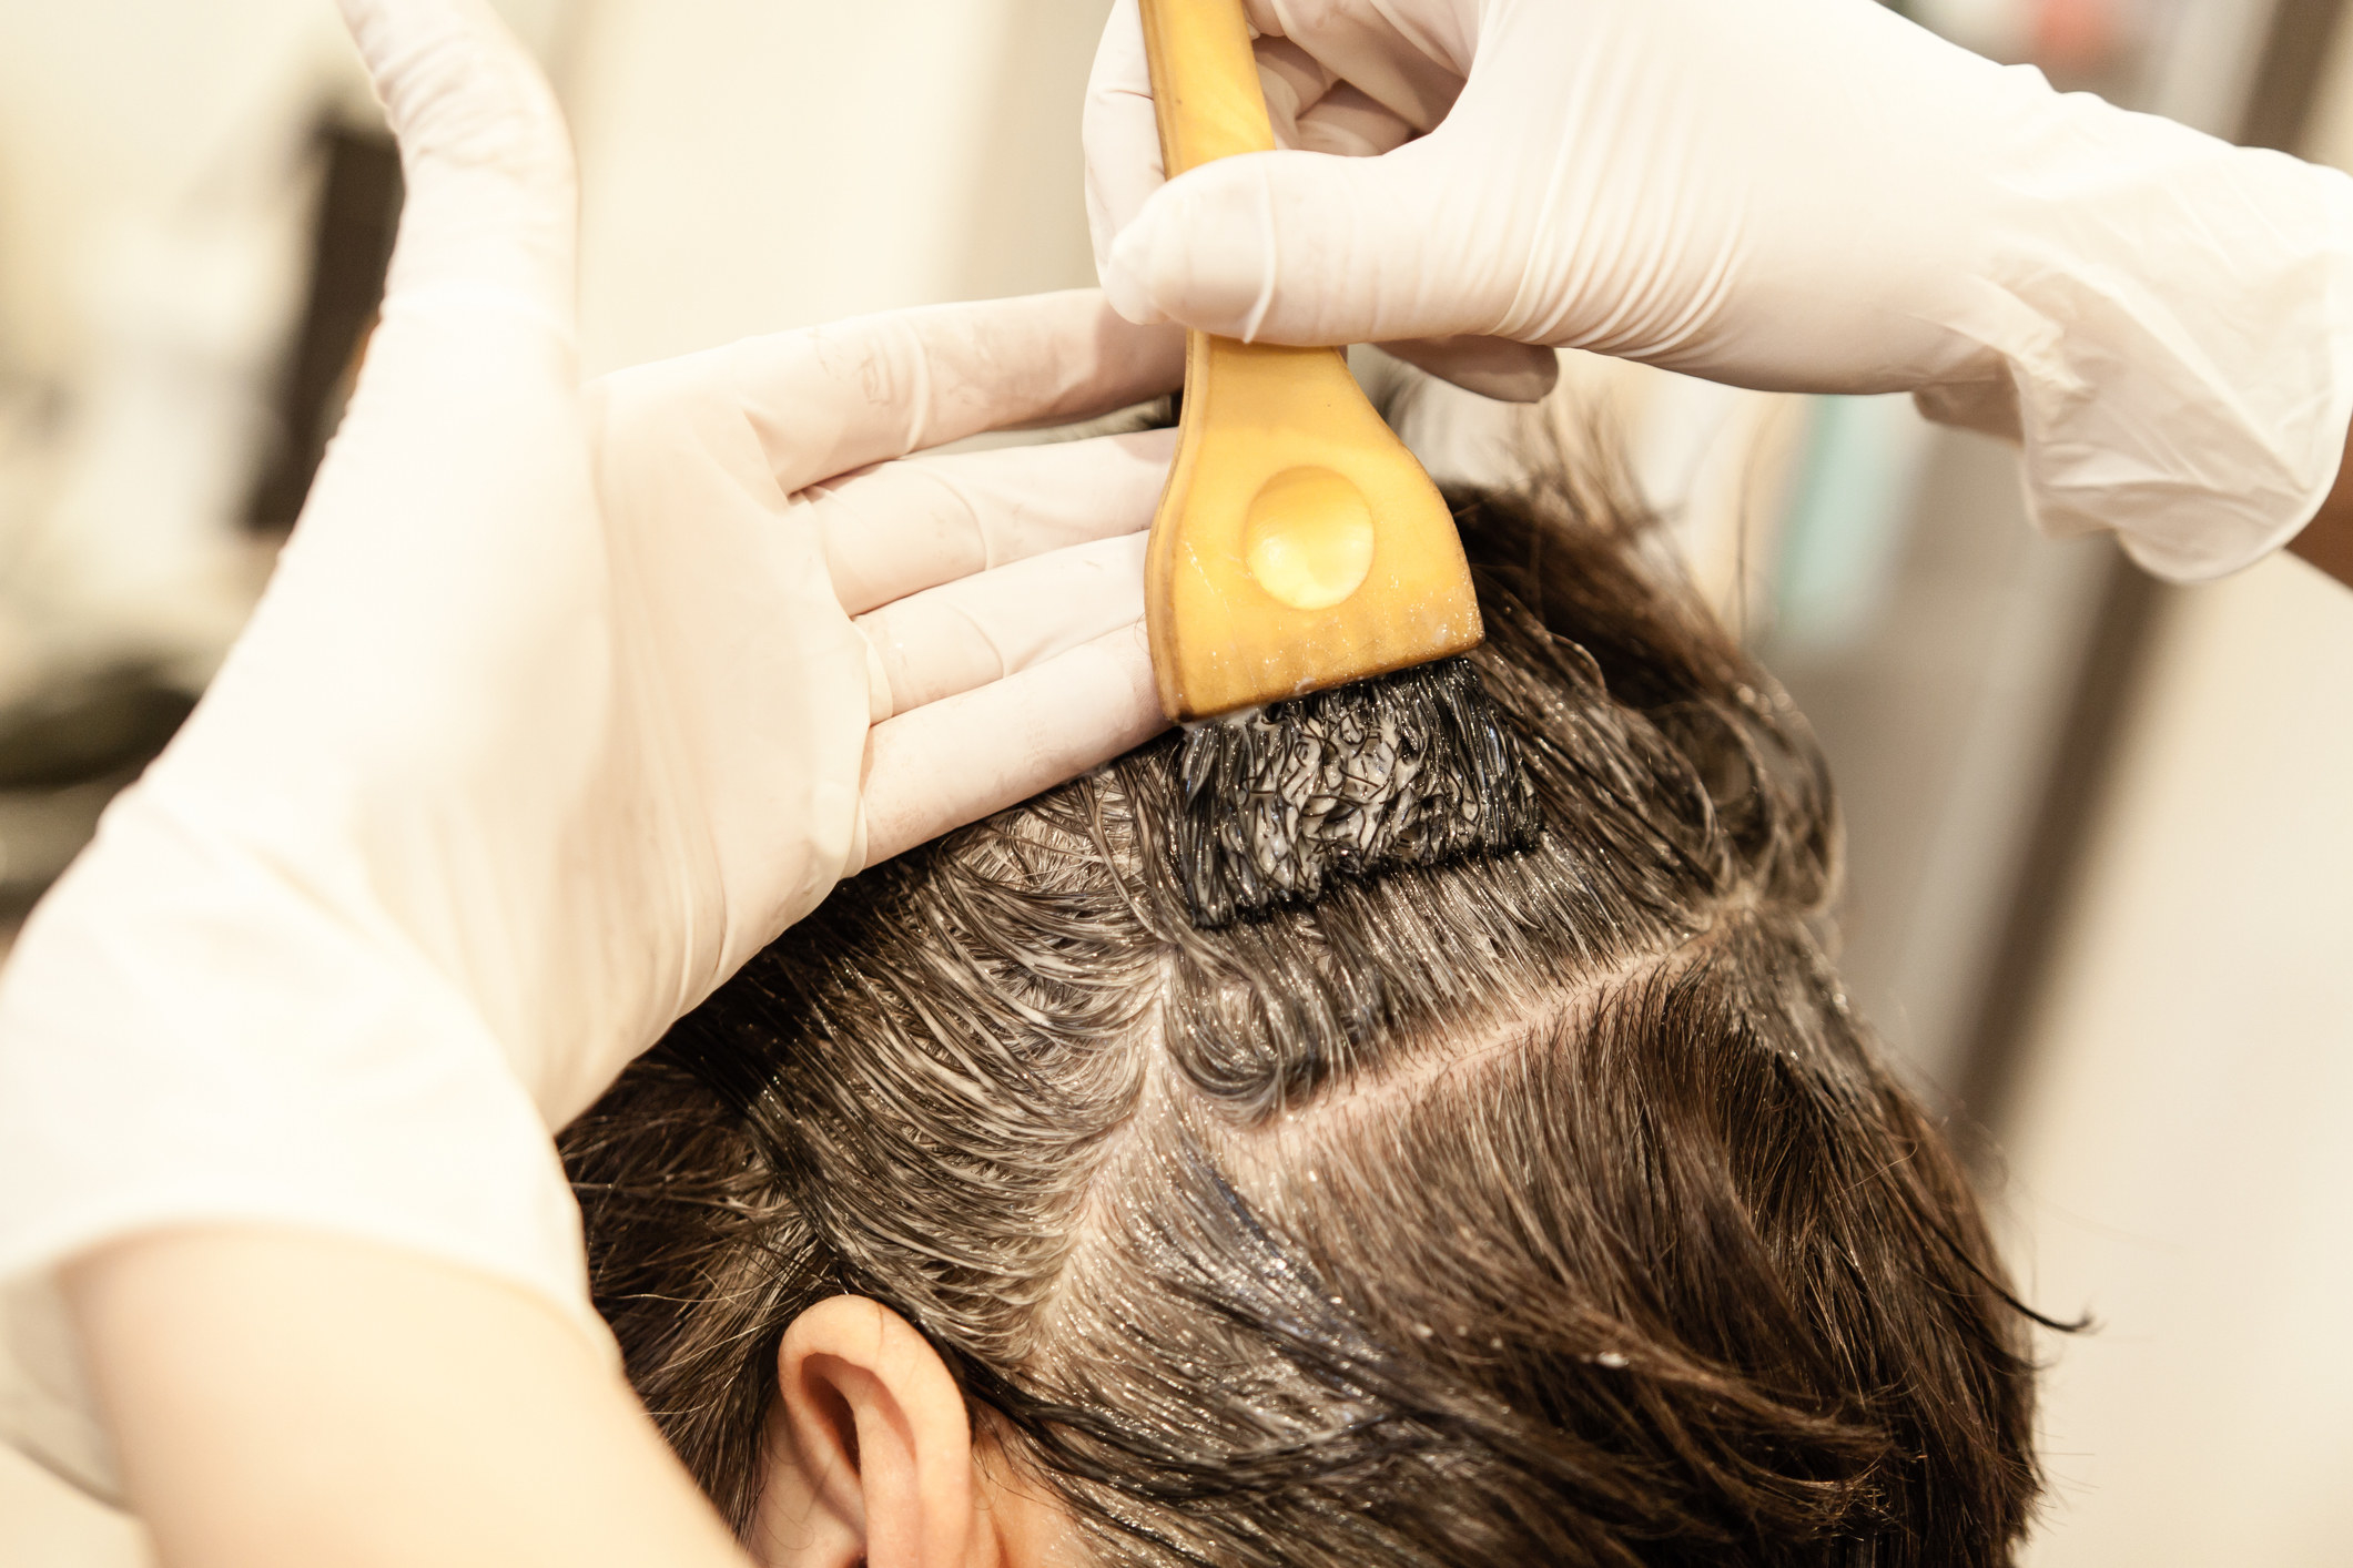
[[[1200,724],[1179,752],[1193,924],[1313,903],[1341,877],[1537,842],[1520,748],[1468,658]]]

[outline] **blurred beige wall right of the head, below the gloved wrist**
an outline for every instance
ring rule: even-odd
[[[2184,595],[2007,1128],[2033,1568],[2353,1563],[2353,592]]]

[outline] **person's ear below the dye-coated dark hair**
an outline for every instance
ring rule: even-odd
[[[784,1331],[751,1547],[767,1568],[981,1568],[972,1422],[939,1352],[835,1295]]]

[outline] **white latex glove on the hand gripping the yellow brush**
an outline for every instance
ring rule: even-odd
[[[1499,334],[2024,440],[2052,531],[2231,571],[2353,416],[2353,183],[1873,0],[1247,0],[1287,143],[1165,190],[1136,2],[1087,99],[1111,299],[1275,343]],[[1329,153],[1374,153],[1334,158]]]

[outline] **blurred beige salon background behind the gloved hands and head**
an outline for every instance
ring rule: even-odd
[[[584,174],[586,369],[1092,282],[1108,0],[511,0]],[[2344,0],[1913,0],[2054,80],[2353,167]],[[0,933],[268,574],[398,165],[327,0],[0,0]],[[1901,397],[1572,355],[1847,799],[1849,990],[1977,1159],[2049,1340],[2035,1568],[2353,1563],[2353,592],[2031,534]],[[1489,411],[1426,400],[1433,468]],[[0,1561],[144,1563],[0,1450]]]

